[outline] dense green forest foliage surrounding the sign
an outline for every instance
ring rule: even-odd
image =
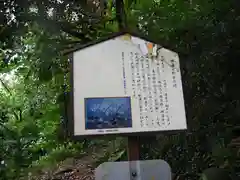
[[[65,130],[63,54],[118,31],[118,10],[113,0],[0,1],[0,179],[39,177],[92,149],[105,150],[97,163],[126,159],[124,138],[76,143]],[[142,159],[164,159],[182,179],[208,167],[239,174],[240,2],[125,0],[124,10],[128,28],[178,52],[182,69],[188,130],[145,138]]]

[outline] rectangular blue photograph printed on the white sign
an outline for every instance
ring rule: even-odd
[[[85,99],[86,129],[132,127],[130,97]]]

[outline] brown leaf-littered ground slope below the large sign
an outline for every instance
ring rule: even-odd
[[[101,161],[114,161],[123,151],[119,150],[119,141],[111,141],[105,146],[95,146],[78,158],[67,158],[51,170],[42,170],[33,180],[93,180],[94,169]],[[110,156],[110,154],[114,154]]]

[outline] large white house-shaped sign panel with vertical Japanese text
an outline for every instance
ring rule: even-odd
[[[73,53],[74,135],[187,128],[179,57],[122,35]]]

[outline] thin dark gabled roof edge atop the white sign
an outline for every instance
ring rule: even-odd
[[[131,36],[134,36],[134,37],[138,37],[140,39],[143,39],[145,41],[148,41],[148,42],[151,42],[151,43],[154,43],[154,44],[158,44],[162,47],[165,47],[169,50],[172,50],[172,48],[169,48],[167,45],[164,45],[164,44],[161,44],[160,42],[158,42],[156,39],[151,39],[147,36],[144,36],[144,35],[141,35],[139,33],[136,33],[136,32],[132,32],[132,31],[129,31],[129,30],[124,30],[124,31],[119,31],[119,32],[115,32],[115,33],[112,33],[108,36],[105,36],[105,37],[101,37],[95,41],[92,41],[92,42],[89,42],[87,44],[83,44],[83,45],[77,45],[75,48],[73,48],[71,51],[65,53],[65,54],[70,54],[70,53],[74,53],[76,51],[79,51],[81,49],[84,49],[84,48],[87,48],[87,47],[90,47],[90,46],[93,46],[93,45],[96,45],[96,44],[99,44],[99,43],[102,43],[104,41],[108,41],[110,39],[114,39],[116,37],[119,37],[119,36],[122,36],[122,35],[125,35],[125,34],[129,34]]]

